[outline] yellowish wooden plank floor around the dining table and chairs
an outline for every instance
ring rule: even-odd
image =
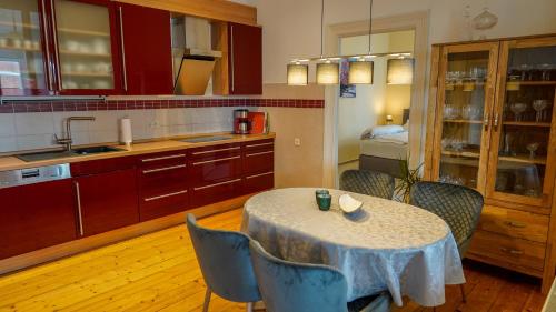
[[[200,221],[237,230],[241,211]],[[466,263],[468,302],[447,288],[437,311],[540,311],[535,280]],[[0,278],[0,311],[200,311],[205,283],[185,227],[109,245]],[[210,311],[245,311],[212,296]],[[431,311],[411,302],[397,312]]]

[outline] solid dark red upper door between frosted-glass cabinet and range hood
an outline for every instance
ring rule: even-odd
[[[130,95],[172,94],[170,12],[125,3],[117,6],[123,91]]]

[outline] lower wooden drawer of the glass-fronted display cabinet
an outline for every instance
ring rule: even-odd
[[[471,259],[509,270],[543,272],[546,244],[476,231],[468,251]]]

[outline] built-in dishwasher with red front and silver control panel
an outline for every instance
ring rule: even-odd
[[[0,259],[77,239],[70,165],[0,171]]]

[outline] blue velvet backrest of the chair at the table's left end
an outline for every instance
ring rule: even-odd
[[[260,293],[249,255],[249,236],[201,228],[191,213],[187,215],[187,228],[210,290],[235,302],[259,301]]]

